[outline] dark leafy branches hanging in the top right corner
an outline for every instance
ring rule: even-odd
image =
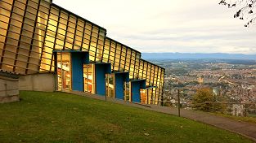
[[[218,4],[227,6],[228,8],[238,6],[238,11],[236,11],[234,18],[239,18],[240,20],[247,20],[245,27],[250,25],[255,25],[256,22],[256,0],[221,0]]]

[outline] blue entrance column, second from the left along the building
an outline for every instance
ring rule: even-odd
[[[111,73],[111,63],[95,63],[96,93],[106,94],[106,74]]]

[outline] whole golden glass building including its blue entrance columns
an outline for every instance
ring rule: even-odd
[[[2,72],[52,72],[56,90],[161,104],[163,67],[50,0],[1,0],[0,25]]]

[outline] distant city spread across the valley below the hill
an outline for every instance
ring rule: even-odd
[[[251,112],[255,114],[256,61],[224,58],[155,58],[150,61],[166,68],[165,100],[177,102],[177,89],[181,89],[181,102],[189,107],[197,89],[210,88],[216,97],[222,98],[218,102],[254,105]]]

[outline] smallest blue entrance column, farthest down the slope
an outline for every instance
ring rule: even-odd
[[[146,80],[131,80],[132,102],[141,102],[141,89],[146,89]]]

